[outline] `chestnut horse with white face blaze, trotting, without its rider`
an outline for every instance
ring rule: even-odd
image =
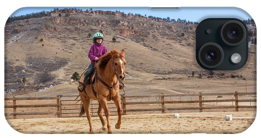
[[[102,130],[108,131],[108,134],[110,134],[112,133],[112,129],[110,126],[110,111],[107,107],[106,100],[113,100],[117,107],[118,122],[116,123],[115,128],[119,129],[122,124],[122,108],[119,96],[119,81],[124,81],[124,79],[126,78],[126,61],[124,59],[124,50],[122,50],[121,52],[119,50],[110,50],[110,52],[101,56],[99,59],[100,60],[95,65],[97,67],[97,76],[95,77],[95,81],[92,84],[97,94],[95,96],[95,92],[93,91],[90,84],[86,86],[85,92],[79,92],[83,104],[83,106],[81,107],[80,116],[82,116],[86,112],[87,119],[90,125],[90,133],[93,133],[89,105],[91,99],[98,100],[99,108],[97,113],[100,120],[102,121]],[[104,110],[104,114],[107,119],[107,127],[106,122],[104,121],[104,118],[102,116],[102,110]]]

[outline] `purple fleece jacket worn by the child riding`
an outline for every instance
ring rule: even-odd
[[[91,46],[88,57],[91,60],[91,64],[95,64],[95,57],[101,57],[102,55],[107,53],[107,49],[102,43],[95,43]],[[96,63],[99,61],[99,59],[96,61]]]

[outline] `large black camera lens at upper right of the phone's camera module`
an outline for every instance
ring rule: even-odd
[[[230,46],[239,45],[245,37],[246,29],[239,21],[228,21],[221,28],[221,38]]]

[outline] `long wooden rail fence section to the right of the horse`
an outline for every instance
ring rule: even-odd
[[[235,99],[216,99],[216,100],[203,100],[202,96],[221,96],[221,95],[234,95]],[[231,92],[231,93],[201,93],[198,94],[160,94],[160,95],[123,95],[123,115],[126,112],[142,112],[142,111],[162,111],[165,110],[199,110],[203,112],[203,109],[225,109],[225,108],[235,108],[238,112],[238,108],[256,108],[256,106],[239,106],[239,102],[256,102],[256,99],[238,99],[238,95],[256,95],[256,92]],[[164,101],[164,97],[184,97],[184,96],[198,96],[198,100],[186,100],[186,101]],[[161,97],[161,101],[139,101],[139,102],[126,102],[126,98],[140,98],[140,97]],[[156,98],[157,99],[157,98]],[[209,102],[235,102],[235,106],[209,106],[203,107],[203,103]],[[179,103],[199,103],[198,107],[181,107],[181,108],[165,108],[165,104],[179,104]],[[127,109],[126,105],[138,105],[138,104],[161,104],[161,108],[149,108],[149,109]]]

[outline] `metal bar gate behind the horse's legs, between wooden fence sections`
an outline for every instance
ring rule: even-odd
[[[79,117],[80,109],[81,109],[81,101],[76,103],[78,99],[75,100],[77,95],[60,95],[60,112],[61,112],[61,117]],[[120,95],[121,99],[121,105],[123,109],[123,101],[122,98],[123,95]],[[107,106],[110,110],[110,115],[118,115],[117,113],[117,108],[114,104],[114,102],[107,101]],[[98,111],[99,103],[97,100],[91,99],[90,101],[90,114],[92,117],[97,117],[97,111]],[[103,113],[104,115],[104,110]],[[83,115],[83,117],[86,117],[86,115]]]

